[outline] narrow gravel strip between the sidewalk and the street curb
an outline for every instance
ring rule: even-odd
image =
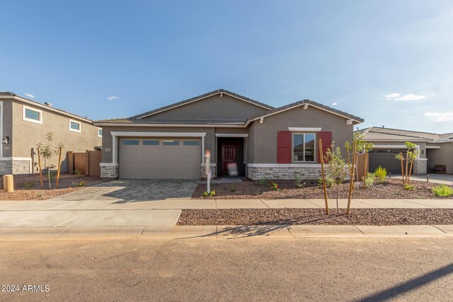
[[[397,226],[453,224],[453,209],[188,209],[183,210],[178,226],[237,225],[366,225]]]

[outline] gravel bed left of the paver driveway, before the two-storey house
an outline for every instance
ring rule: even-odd
[[[46,175],[47,176],[47,175]],[[49,189],[47,178],[44,178],[44,190],[41,190],[39,175],[14,175],[14,192],[4,192],[3,178],[0,180],[0,200],[45,200],[57,197],[76,190],[84,190],[110,180],[103,180],[93,176],[69,175],[62,173],[59,179],[58,189],[54,189],[56,175],[51,178],[52,189]],[[79,186],[84,182],[84,186]]]

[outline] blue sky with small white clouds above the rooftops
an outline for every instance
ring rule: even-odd
[[[453,132],[451,0],[2,1],[1,14],[0,91],[93,120],[225,88]]]

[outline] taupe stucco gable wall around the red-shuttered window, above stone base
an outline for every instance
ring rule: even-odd
[[[277,163],[277,132],[288,131],[288,127],[321,127],[322,132],[332,132],[332,140],[346,156],[344,144],[352,140],[353,131],[346,121],[345,117],[313,107],[304,110],[303,106],[265,117],[263,124],[256,120],[249,129],[249,163]]]

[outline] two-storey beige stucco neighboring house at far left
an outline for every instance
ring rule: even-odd
[[[0,92],[0,118],[0,175],[38,171],[34,149],[38,142],[47,144],[48,132],[54,137],[51,146],[64,144],[62,172],[67,171],[66,151],[84,152],[102,144],[102,129],[91,120],[11,92]],[[57,165],[57,158],[51,163]]]

